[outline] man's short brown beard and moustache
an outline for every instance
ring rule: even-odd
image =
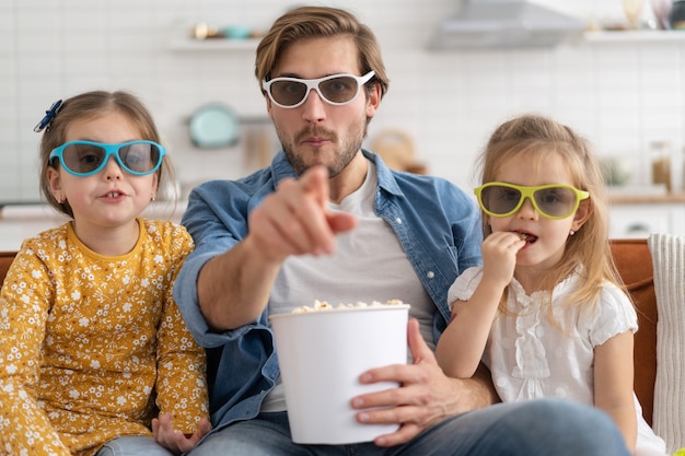
[[[290,165],[299,176],[301,176],[310,167],[321,164],[328,168],[329,177],[335,177],[340,174],[347,165],[349,165],[361,149],[361,144],[367,137],[369,119],[360,119],[359,122],[350,126],[347,135],[342,138],[340,138],[335,131],[313,126],[299,131],[294,136],[294,139],[292,139],[292,137],[286,135],[286,132],[282,131],[276,122],[274,125],[283,152],[286,153]],[[298,150],[297,144],[301,143],[304,138],[311,136],[325,138],[330,141],[326,148],[334,148],[333,160],[325,162],[324,159],[322,159],[322,156],[328,152],[326,150]]]

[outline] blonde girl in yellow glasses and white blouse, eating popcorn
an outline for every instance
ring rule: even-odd
[[[483,356],[503,401],[594,405],[635,454],[664,455],[632,391],[637,314],[613,266],[589,144],[552,119],[522,116],[492,133],[480,160],[483,267],[450,288],[441,366],[469,377]]]

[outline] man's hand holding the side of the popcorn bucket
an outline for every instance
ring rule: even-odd
[[[360,410],[357,413],[359,422],[400,424],[396,432],[376,437],[374,443],[379,446],[406,443],[449,417],[485,407],[495,400],[491,383],[444,375],[423,341],[416,319],[409,320],[407,337],[414,364],[372,369],[360,377],[362,384],[398,382],[400,386],[360,395],[351,401],[352,408]],[[381,409],[364,410],[376,407]]]

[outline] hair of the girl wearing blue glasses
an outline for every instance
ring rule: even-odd
[[[47,169],[49,167],[56,168],[57,166],[57,164],[50,163],[50,152],[53,152],[53,149],[67,142],[67,129],[72,121],[97,118],[112,112],[118,112],[126,116],[131,125],[138,129],[139,139],[160,143],[160,133],[154,125],[152,115],[138,97],[128,92],[92,91],[66,100],[46,128],[40,140],[40,192],[58,212],[73,218],[73,211],[69,206],[69,201],[60,203],[50,191]],[[174,180],[174,169],[169,155],[164,156],[162,166],[156,171],[156,175],[158,188],[162,186],[163,175],[170,180]]]

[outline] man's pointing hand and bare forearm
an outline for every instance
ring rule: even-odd
[[[323,166],[309,169],[300,179],[283,179],[251,212],[247,236],[205,265],[197,294],[210,328],[224,331],[258,318],[289,256],[335,250],[335,236],[355,227],[357,219],[332,213],[328,192],[328,172]]]

